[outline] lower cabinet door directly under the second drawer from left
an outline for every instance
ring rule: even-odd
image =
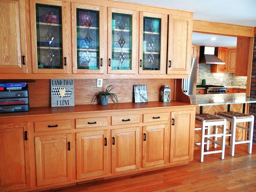
[[[76,133],[76,178],[90,178],[110,171],[110,130]]]

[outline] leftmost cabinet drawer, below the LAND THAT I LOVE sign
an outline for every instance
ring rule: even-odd
[[[34,122],[35,132],[67,130],[71,129],[71,127],[72,120],[70,119]]]

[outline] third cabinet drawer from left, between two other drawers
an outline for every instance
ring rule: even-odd
[[[140,122],[140,114],[117,115],[111,117],[111,125],[123,125]]]

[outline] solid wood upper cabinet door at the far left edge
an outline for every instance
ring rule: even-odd
[[[0,0],[0,73],[31,70],[29,1]]]

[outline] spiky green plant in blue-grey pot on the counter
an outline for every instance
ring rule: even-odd
[[[114,87],[112,87],[112,85],[108,86],[106,88],[105,91],[101,91],[99,92],[95,98],[94,98],[94,102],[95,100],[98,98],[98,102],[100,102],[101,105],[107,105],[108,104],[108,98],[110,97],[111,100],[114,102],[114,103],[118,103],[118,99],[117,99],[117,96],[116,94],[114,93],[110,93],[110,91],[114,89]],[[97,102],[97,104],[98,104]]]

